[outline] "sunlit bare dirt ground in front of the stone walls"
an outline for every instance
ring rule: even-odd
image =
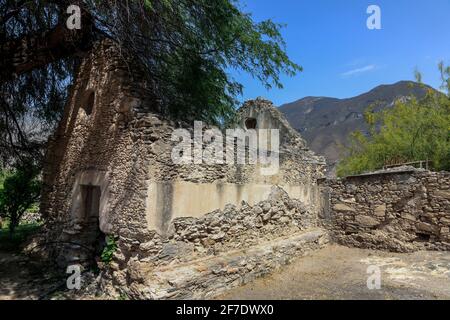
[[[368,278],[378,271],[370,266],[381,271],[379,290],[367,286]],[[450,252],[395,254],[331,245],[219,298],[450,299]]]

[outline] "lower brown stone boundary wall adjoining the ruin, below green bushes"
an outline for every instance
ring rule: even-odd
[[[322,183],[339,243],[396,252],[450,250],[450,173],[379,172]]]

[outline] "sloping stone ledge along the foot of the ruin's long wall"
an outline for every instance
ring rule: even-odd
[[[189,264],[132,273],[141,282],[132,283],[128,293],[140,299],[214,298],[228,289],[268,275],[293,259],[324,247],[328,241],[324,230],[309,230]]]

